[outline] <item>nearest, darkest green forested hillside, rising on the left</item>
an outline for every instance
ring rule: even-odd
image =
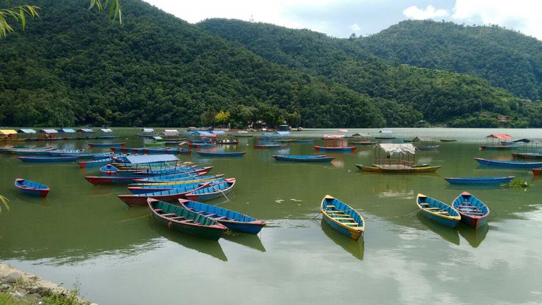
[[[243,124],[301,116],[311,127],[385,125],[371,97],[272,64],[143,1],[122,1],[124,25],[88,11],[88,0],[30,4],[41,18],[0,42],[1,125],[200,126],[220,110]]]

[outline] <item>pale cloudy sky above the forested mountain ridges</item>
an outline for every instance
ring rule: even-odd
[[[371,35],[406,19],[496,24],[542,40],[540,0],[145,0],[197,23],[234,18],[308,28],[334,37]]]

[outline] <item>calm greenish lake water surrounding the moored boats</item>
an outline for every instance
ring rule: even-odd
[[[542,182],[530,170],[480,167],[473,157],[506,159],[510,151],[482,151],[490,133],[542,138],[540,129],[392,128],[395,135],[457,138],[418,152],[417,161],[442,165],[436,173],[375,174],[373,149],[331,153],[331,164],[277,162],[275,154],[313,154],[291,143],[255,150],[240,138],[241,158],[181,155],[211,174],[236,177],[227,198],[210,201],[265,220],[257,236],[229,233],[207,241],[155,223],[145,207],[128,208],[116,195],[125,186],[92,186],[96,172],[76,164],[32,165],[0,155],[0,259],[71,289],[99,304],[541,304]],[[135,128],[115,128],[128,147],[142,147]],[[350,130],[349,134],[378,130]],[[336,130],[293,132],[320,138]],[[105,140],[102,140],[105,141]],[[96,141],[93,141],[96,142]],[[84,140],[27,145],[87,148]],[[88,150],[106,151],[106,150]],[[529,189],[450,186],[442,177],[512,175]],[[19,194],[17,177],[40,181],[46,199]],[[491,209],[488,225],[448,229],[416,215],[416,194],[446,203],[469,191]],[[342,236],[319,215],[330,194],[366,217],[359,241]]]

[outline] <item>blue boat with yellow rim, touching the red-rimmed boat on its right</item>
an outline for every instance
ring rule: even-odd
[[[416,197],[416,205],[420,208],[421,215],[441,225],[454,228],[457,227],[459,220],[461,220],[461,216],[456,209],[421,193],[418,193]]]

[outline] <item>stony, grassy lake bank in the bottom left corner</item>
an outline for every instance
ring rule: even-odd
[[[68,290],[5,263],[0,263],[0,304],[97,305],[79,297],[78,287]]]

